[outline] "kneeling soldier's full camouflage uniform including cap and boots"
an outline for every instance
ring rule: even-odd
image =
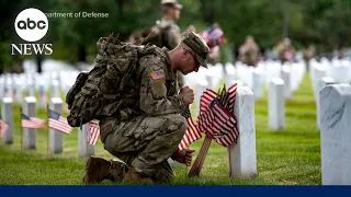
[[[189,33],[183,43],[193,50],[199,65],[207,67],[210,49],[204,40]],[[129,166],[126,174],[133,175],[135,171],[154,182],[169,181],[173,176],[167,160],[178,151],[186,130],[186,120],[181,116],[186,106],[178,94],[177,72],[171,69],[169,50],[155,45],[146,47],[155,51],[138,60],[139,67],[131,80],[129,91],[123,94],[124,107],[116,117],[100,120],[104,149],[127,166],[112,161],[110,164],[102,159],[88,160],[86,183],[104,178],[121,181]]]

